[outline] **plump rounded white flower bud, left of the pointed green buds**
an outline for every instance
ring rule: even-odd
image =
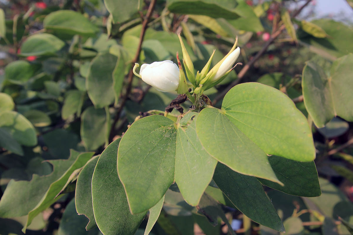
[[[179,68],[170,60],[142,64],[140,75],[144,82],[158,91],[174,91],[179,85]]]

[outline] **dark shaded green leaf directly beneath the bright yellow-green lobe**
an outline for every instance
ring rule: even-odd
[[[284,186],[269,180],[258,179],[262,184],[276,190],[301,197],[317,197],[321,195],[319,179],[315,163],[297,162],[272,155],[268,157],[276,176]]]

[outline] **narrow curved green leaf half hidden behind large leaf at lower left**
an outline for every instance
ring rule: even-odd
[[[92,175],[98,156],[92,157],[80,171],[76,181],[75,205],[79,215],[85,215],[89,222],[86,230],[97,227],[92,208]]]

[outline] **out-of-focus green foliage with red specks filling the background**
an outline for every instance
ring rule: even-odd
[[[10,180],[28,182],[33,174],[59,177],[65,171],[53,171],[52,160],[61,166],[70,149],[99,155],[137,116],[164,112],[177,93],[158,92],[134,78],[131,63],[176,62],[176,52],[181,54],[177,33],[196,70],[216,49],[214,65],[239,37],[243,66],[207,91],[214,106],[220,107],[234,85],[257,81],[286,93],[308,117],[301,87],[306,62],[329,74],[334,60],[353,52],[352,19],[345,14],[318,18],[319,1],[158,0],[146,17],[148,0],[1,0],[0,196]],[[352,94],[346,105],[353,109]],[[190,103],[182,106],[186,111]],[[302,198],[266,188],[268,197],[286,234],[350,234],[353,123],[335,117],[317,128],[310,116],[308,121],[322,196]],[[38,183],[35,191],[46,192],[54,178]],[[76,179],[70,180],[74,185]],[[212,187],[208,190],[237,233],[279,234],[251,222]],[[73,191],[43,208],[26,234],[101,234],[97,228],[85,230],[88,219],[77,215]],[[162,211],[167,220],[158,220],[151,234],[227,233],[223,222],[210,226],[185,204],[180,193],[168,190]],[[0,210],[0,234],[23,234],[25,205],[26,200],[9,205],[23,207],[18,216]],[[144,233],[146,223],[136,234]]]

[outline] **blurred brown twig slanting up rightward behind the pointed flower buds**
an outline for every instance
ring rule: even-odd
[[[295,11],[293,17],[298,16],[298,14],[303,10],[303,8],[308,5],[311,1],[312,0],[307,0],[303,6],[301,6],[297,11]],[[281,34],[282,30],[284,29],[285,25],[281,25],[278,30],[271,34],[270,39],[265,43],[263,48],[258,51],[257,54],[240,70],[238,74],[238,79],[233,81],[226,89],[224,89],[219,95],[217,95],[216,98],[213,100],[213,104],[216,104],[218,101],[220,101],[233,86],[237,85],[240,82],[240,80],[244,77],[250,67],[255,63],[255,61],[258,60],[258,58],[260,58],[260,56],[262,56],[262,54],[267,50],[269,45]]]

